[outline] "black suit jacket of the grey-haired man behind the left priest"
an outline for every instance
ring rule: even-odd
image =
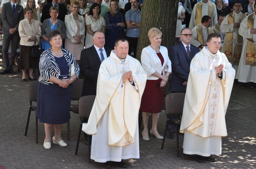
[[[105,47],[104,49],[109,57],[112,50]],[[96,95],[100,64],[101,61],[94,45],[82,50],[80,57],[80,73],[84,76],[82,96]]]

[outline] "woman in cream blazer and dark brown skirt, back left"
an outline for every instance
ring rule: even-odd
[[[30,58],[33,45],[39,46],[41,27],[40,22],[32,19],[33,11],[30,7],[24,9],[26,19],[19,22],[20,55],[18,69],[22,70],[22,81],[26,80],[26,70],[29,70],[29,80],[35,81],[33,69],[39,68],[39,58]]]

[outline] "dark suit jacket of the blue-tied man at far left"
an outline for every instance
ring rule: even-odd
[[[3,4],[1,19],[3,22],[3,27],[1,33],[4,35],[11,35],[10,29],[16,28],[15,34],[19,34],[18,27],[19,21],[24,19],[23,7],[19,4],[16,5],[14,17],[12,14],[12,4],[7,2]]]

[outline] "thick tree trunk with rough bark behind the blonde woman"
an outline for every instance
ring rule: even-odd
[[[152,27],[156,27],[162,32],[162,46],[169,48],[174,45],[178,1],[179,0],[143,0],[140,34],[136,54],[136,58],[139,61],[142,49],[150,45],[147,32]]]

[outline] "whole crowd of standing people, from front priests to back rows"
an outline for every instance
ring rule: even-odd
[[[142,0],[2,2],[1,74],[14,74],[20,43],[22,81],[27,81],[26,70],[29,80],[35,81],[33,69],[40,69],[37,117],[44,123],[45,149],[51,148],[53,127],[53,143],[67,146],[61,129],[70,119],[72,83],[81,74],[82,96],[96,95],[82,129],[93,135],[91,159],[106,168],[113,164],[126,168],[122,159],[139,158],[139,111],[142,139],[150,141],[149,134],[163,139],[157,122],[172,73],[169,90],[186,93],[183,152],[193,154],[198,162],[215,162],[211,154],[221,154],[221,137],[227,135],[225,113],[234,79],[241,88],[251,82],[256,90],[256,5],[255,0],[243,3],[179,0],[175,45],[161,46],[161,31],[151,28],[150,45],[142,50],[140,63],[136,51]],[[31,58],[31,49],[39,45],[44,50],[40,60]],[[175,126],[169,124],[167,137],[173,139],[174,131]]]

